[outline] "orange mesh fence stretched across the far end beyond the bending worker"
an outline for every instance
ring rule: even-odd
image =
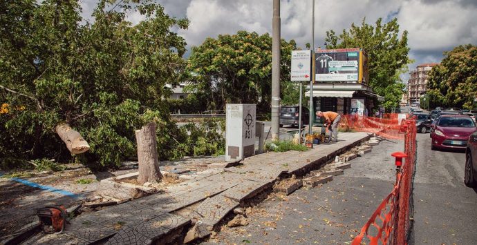
[[[397,117],[397,114],[392,115],[392,118],[343,115],[339,129],[375,133],[386,139],[404,139],[407,119]]]

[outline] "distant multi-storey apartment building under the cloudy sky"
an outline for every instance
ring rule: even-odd
[[[433,66],[439,63],[422,63],[411,70],[409,80],[407,82],[409,104],[418,104],[422,94],[427,92],[427,75]]]

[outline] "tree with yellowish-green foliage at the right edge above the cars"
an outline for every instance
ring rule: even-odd
[[[457,46],[444,55],[429,72],[431,106],[472,109],[477,97],[477,46]]]

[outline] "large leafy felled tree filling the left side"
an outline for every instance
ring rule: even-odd
[[[133,26],[127,11],[144,16]],[[0,159],[71,160],[55,126],[88,141],[86,160],[103,166],[135,156],[134,130],[156,121],[160,157],[185,132],[169,120],[165,84],[178,84],[187,28],[150,0],[101,0],[93,23],[75,0],[0,3]]]

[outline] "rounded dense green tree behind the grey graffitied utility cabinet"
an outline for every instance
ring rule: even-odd
[[[290,81],[292,40],[281,40],[281,84]],[[224,110],[227,103],[258,104],[270,111],[272,90],[272,37],[239,31],[236,35],[207,38],[192,48],[187,72],[189,89],[202,93],[209,109]],[[283,91],[283,86],[282,86]]]

